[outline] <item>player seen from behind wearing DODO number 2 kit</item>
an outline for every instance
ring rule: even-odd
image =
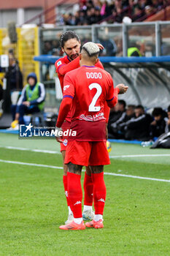
[[[82,166],[90,166],[93,180],[95,217],[86,223],[87,227],[103,227],[103,211],[106,199],[104,165],[109,165],[106,146],[106,119],[104,104],[109,108],[117,103],[120,89],[113,87],[111,75],[104,69],[95,67],[99,48],[93,42],[82,47],[80,68],[68,72],[63,82],[63,100],[58,113],[56,127],[61,127],[71,109],[70,129],[76,137],[69,137],[64,163],[68,165],[68,192],[74,220],[60,228],[63,230],[85,229],[82,220],[82,188],[80,183]],[[120,93],[128,86],[121,86]],[[114,92],[115,91],[115,92]]]

